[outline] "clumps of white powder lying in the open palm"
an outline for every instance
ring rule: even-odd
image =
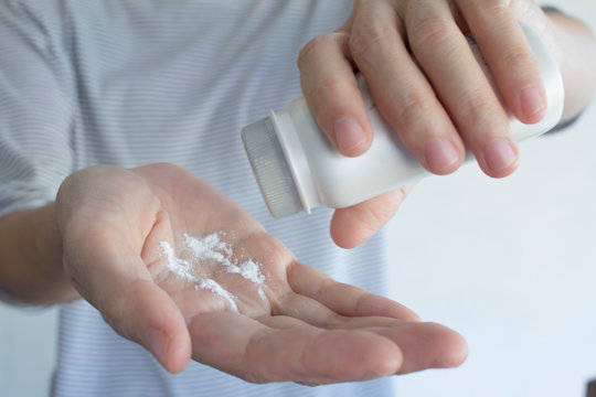
[[[237,312],[236,297],[233,293],[225,290],[213,279],[198,278],[192,273],[193,266],[204,264],[205,260],[212,260],[222,265],[226,272],[237,273],[258,286],[258,294],[260,299],[266,301],[262,287],[265,277],[260,271],[260,264],[248,259],[238,266],[233,258],[234,251],[230,244],[221,240],[220,236],[223,235],[223,232],[216,232],[204,237],[193,237],[184,234],[184,248],[192,254],[191,261],[178,257],[168,242],[160,242],[162,255],[166,256],[168,261],[168,269],[178,277],[196,282],[194,285],[195,290],[206,289],[221,296],[230,303],[231,309]]]

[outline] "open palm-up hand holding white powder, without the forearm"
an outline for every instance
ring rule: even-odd
[[[171,372],[192,355],[251,382],[323,384],[466,357],[454,331],[299,262],[249,214],[178,167],[76,172],[58,192],[56,217],[78,292]],[[217,232],[227,259],[189,255],[187,234]],[[171,271],[177,260],[184,271]],[[262,282],[226,271],[226,260],[258,262]]]

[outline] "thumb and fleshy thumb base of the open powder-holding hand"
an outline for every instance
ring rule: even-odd
[[[189,331],[141,258],[156,211],[147,180],[117,167],[78,171],[56,196],[64,270],[75,288],[117,333],[177,373],[190,360]]]

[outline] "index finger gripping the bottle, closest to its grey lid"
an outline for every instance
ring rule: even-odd
[[[302,49],[298,67],[317,124],[340,153],[354,157],[371,146],[372,127],[348,57],[348,34],[331,33]]]

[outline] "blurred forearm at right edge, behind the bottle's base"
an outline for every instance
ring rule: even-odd
[[[555,10],[546,10],[565,86],[562,121],[573,119],[588,104],[596,88],[596,40],[578,20]]]

